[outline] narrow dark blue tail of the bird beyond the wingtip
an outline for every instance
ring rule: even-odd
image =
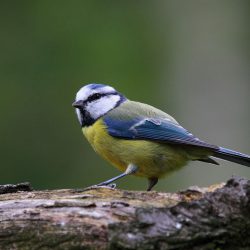
[[[245,155],[231,149],[219,147],[218,151],[215,151],[213,156],[250,167],[249,155]]]

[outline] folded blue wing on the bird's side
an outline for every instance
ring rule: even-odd
[[[114,137],[218,149],[215,145],[199,140],[178,123],[167,118],[117,119],[106,116],[104,122],[109,134]]]

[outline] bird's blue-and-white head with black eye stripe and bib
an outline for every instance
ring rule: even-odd
[[[91,83],[76,94],[76,114],[82,127],[92,125],[97,119],[126,101],[126,97],[113,87]]]

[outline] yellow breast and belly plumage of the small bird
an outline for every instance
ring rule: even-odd
[[[130,163],[138,167],[137,176],[160,178],[184,166],[189,157],[185,150],[146,140],[124,140],[108,134],[101,119],[83,128],[94,150],[121,171]]]

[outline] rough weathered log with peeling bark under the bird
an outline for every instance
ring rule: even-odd
[[[250,249],[244,178],[172,194],[29,190],[0,187],[0,249]]]

